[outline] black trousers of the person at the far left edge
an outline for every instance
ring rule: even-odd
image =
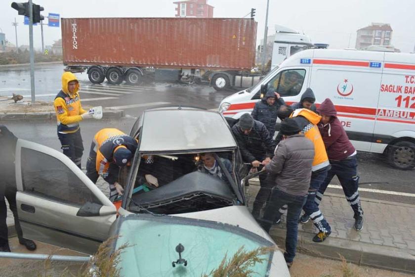
[[[4,197],[9,203],[10,210],[14,216],[14,228],[16,229],[19,240],[23,238],[23,231],[20,227],[19,217],[17,216],[17,204],[16,204],[16,188],[12,186],[6,186],[4,189],[4,196],[0,193],[0,245],[8,245],[8,230],[6,224],[7,206],[4,201]]]

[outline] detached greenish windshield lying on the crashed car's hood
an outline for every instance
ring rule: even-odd
[[[121,254],[121,276],[204,276],[218,268],[225,257],[240,253],[241,247],[252,251],[272,245],[236,226],[172,216],[128,216],[120,224],[119,235],[117,248],[125,243],[131,245]],[[176,252],[179,244],[184,249],[181,266]],[[142,249],[140,245],[151,246]],[[255,276],[267,276],[272,256],[272,251],[259,256],[263,261],[249,269]]]

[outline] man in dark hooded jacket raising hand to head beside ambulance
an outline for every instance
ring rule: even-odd
[[[285,105],[285,102],[280,94],[274,92],[274,89],[269,89],[265,97],[256,102],[255,107],[253,107],[251,116],[265,125],[271,138],[274,137],[278,109],[282,105]]]

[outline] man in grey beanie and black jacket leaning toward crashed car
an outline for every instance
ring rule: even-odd
[[[232,133],[238,142],[242,159],[253,168],[262,167],[262,162],[269,161],[273,156],[275,144],[267,128],[262,122],[254,120],[250,114],[245,113],[241,116],[239,122],[232,127]],[[261,187],[252,209],[254,218],[259,217],[262,206],[271,193],[265,174],[259,175],[259,184]]]

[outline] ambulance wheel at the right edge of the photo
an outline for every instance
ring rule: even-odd
[[[389,146],[389,162],[400,169],[415,167],[415,143],[411,141],[398,141]]]

